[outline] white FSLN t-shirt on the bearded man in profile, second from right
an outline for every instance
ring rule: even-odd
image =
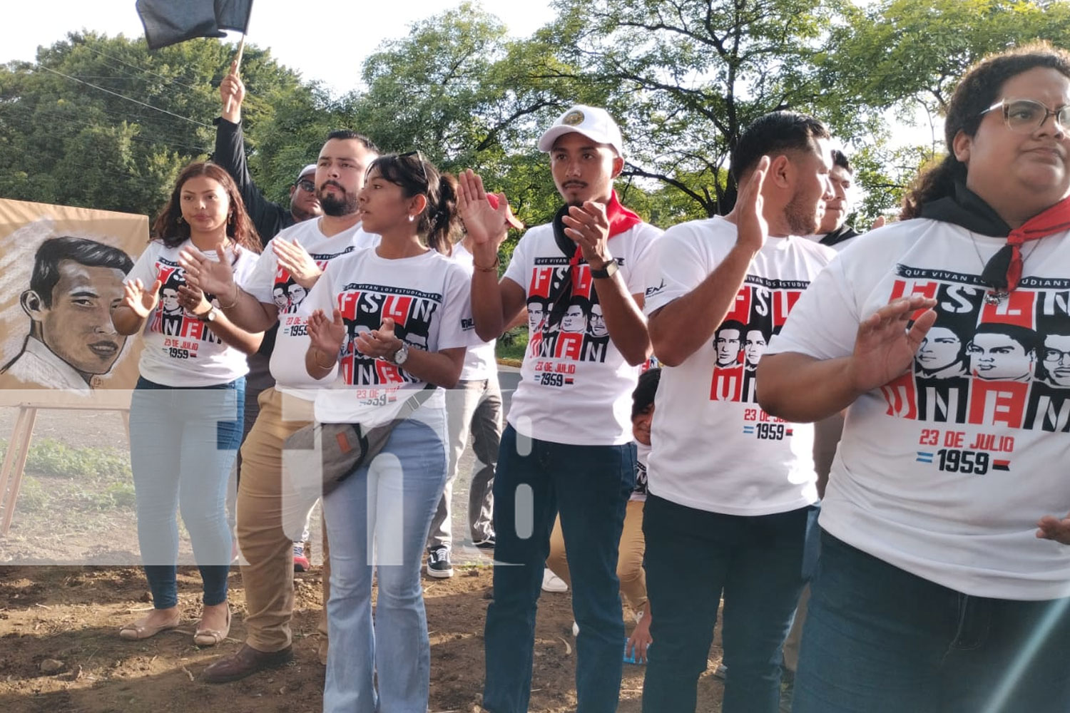
[[[699,286],[736,233],[721,217],[666,231],[646,313]],[[662,366],[651,427],[651,493],[728,515],[788,512],[817,500],[813,425],[764,413],[754,373],[769,338],[834,255],[801,237],[767,238],[713,338],[679,366]]]

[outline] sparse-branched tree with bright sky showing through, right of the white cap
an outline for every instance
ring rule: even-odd
[[[627,173],[672,186],[705,215],[735,202],[728,162],[743,129],[809,108],[811,58],[839,0],[559,0],[554,33],[611,97]]]

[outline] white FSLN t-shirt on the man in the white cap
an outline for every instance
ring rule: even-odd
[[[642,294],[651,246],[661,231],[645,222],[609,241],[629,294]],[[528,351],[520,384],[506,417],[518,433],[574,446],[620,446],[631,440],[631,391],[639,367],[628,366],[609,338],[590,266],[569,259],[553,238],[553,226],[532,228],[513,251],[505,278],[523,288],[528,303]],[[554,297],[572,270],[571,289]]]

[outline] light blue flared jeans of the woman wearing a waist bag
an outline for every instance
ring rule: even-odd
[[[444,433],[419,421],[399,423],[370,465],[323,498],[331,542],[324,713],[427,711],[431,646],[419,571],[446,481],[444,440]]]

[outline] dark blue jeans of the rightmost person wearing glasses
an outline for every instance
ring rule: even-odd
[[[1070,600],[969,596],[827,532],[810,587],[795,713],[1070,710]]]

